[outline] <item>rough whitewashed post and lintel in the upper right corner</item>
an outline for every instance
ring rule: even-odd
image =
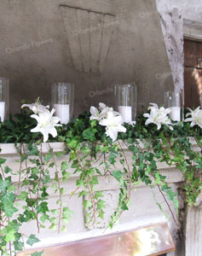
[[[156,3],[175,88],[180,90],[184,87],[184,29],[196,26],[201,30],[202,1],[156,0]]]

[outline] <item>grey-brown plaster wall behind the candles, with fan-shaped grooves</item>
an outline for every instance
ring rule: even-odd
[[[113,105],[113,85],[136,82],[138,109],[174,87],[155,0],[1,0],[0,76],[10,108],[51,102],[51,84],[75,84],[75,115]]]

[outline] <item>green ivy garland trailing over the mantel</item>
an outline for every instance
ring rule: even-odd
[[[118,134],[118,140],[113,143],[112,139],[106,136],[104,127],[98,125],[96,120],[89,120],[89,113],[83,113],[72,123],[57,127],[56,138],[49,138],[49,142],[62,142],[66,145],[65,152],[56,154],[50,145],[49,153],[42,153],[42,135],[30,132],[36,126],[36,120],[30,118],[30,111],[23,110],[15,114],[14,118],[10,116],[9,120],[0,123],[0,143],[14,143],[20,154],[18,171],[6,166],[6,159],[0,158],[0,252],[2,255],[16,255],[24,249],[25,243],[32,246],[39,241],[34,234],[26,237],[20,231],[23,224],[32,220],[36,222],[38,232],[47,226],[51,230],[66,230],[66,224],[73,212],[62,201],[62,196],[66,192],[62,182],[66,182],[71,177],[72,174],[68,172],[70,167],[74,173],[79,174],[78,189],[72,191],[72,195],[84,196],[87,225],[99,222],[105,214],[103,195],[101,191],[95,189],[99,183],[99,176],[110,175],[119,183],[118,207],[111,216],[109,222],[111,228],[122,212],[128,210],[131,191],[140,182],[151,188],[157,186],[162,196],[166,193],[168,199],[173,201],[177,210],[176,193],[166,182],[166,177],[159,172],[157,167],[159,162],[165,162],[169,166],[174,165],[182,172],[184,177],[182,188],[186,193],[187,203],[189,206],[194,205],[202,188],[199,178],[202,158],[200,153],[194,152],[189,137],[195,138],[202,148],[201,129],[197,126],[191,128],[186,123],[175,125],[174,131],[170,131],[166,125],[157,130],[156,125],[151,124],[146,127],[145,120],[141,116],[136,125],[125,124],[127,131]],[[125,155],[125,149],[130,152],[130,163],[128,156]],[[56,166],[56,158],[64,155],[66,160],[61,166]],[[117,162],[122,169],[115,168]],[[24,164],[26,168],[22,168]],[[52,168],[55,168],[54,179],[50,177]],[[17,183],[12,183],[14,176],[18,178]],[[55,208],[50,208],[48,203],[50,186],[58,195]],[[164,200],[170,207],[165,196]],[[174,215],[173,218],[175,219]],[[43,255],[43,252],[32,253],[32,256],[40,255]]]

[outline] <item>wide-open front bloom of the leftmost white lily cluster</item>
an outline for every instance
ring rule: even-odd
[[[57,131],[55,129],[55,126],[61,126],[58,124],[60,122],[59,117],[53,116],[55,113],[55,109],[53,108],[51,112],[47,108],[45,108],[45,111],[39,112],[37,114],[32,114],[32,119],[36,119],[38,121],[38,125],[33,128],[32,132],[41,132],[43,134],[43,143],[46,143],[49,139],[49,134],[51,134],[53,137],[57,136]]]

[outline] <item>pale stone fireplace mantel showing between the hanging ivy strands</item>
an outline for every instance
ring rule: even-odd
[[[198,147],[197,143],[194,141],[193,138],[190,138],[191,143],[193,144],[193,148],[195,151],[200,152],[200,148]],[[49,143],[50,147],[53,148],[54,152],[63,151],[65,148],[64,143]],[[43,143],[42,150],[43,153],[47,153],[49,151],[49,145],[47,143]],[[19,160],[19,153],[18,150],[14,147],[14,144],[0,144],[1,152],[0,157],[4,157],[7,159],[5,166],[9,166],[14,170],[19,170],[20,163],[17,161]],[[127,152],[126,148],[124,148],[125,154],[130,154]],[[57,157],[56,164],[60,166],[63,160],[68,160],[68,156]],[[130,158],[129,158],[130,163]],[[118,165],[118,164],[117,164]],[[175,166],[167,166],[165,163],[159,164],[159,170],[162,172],[163,175],[167,177],[168,183],[170,183],[171,187],[177,191],[180,187],[180,183],[182,183],[183,177],[180,170],[177,170]],[[118,166],[115,166],[118,168]],[[55,170],[51,170],[51,175],[54,177]],[[71,170],[68,170],[71,172]],[[96,187],[96,190],[103,191],[104,198],[103,200],[107,202],[106,214],[104,220],[101,224],[95,224],[94,226],[90,227],[90,230],[87,229],[85,222],[84,222],[84,208],[83,208],[83,198],[78,198],[77,195],[72,195],[70,199],[70,194],[72,191],[77,189],[76,187],[76,180],[78,178],[78,174],[72,174],[72,176],[67,180],[66,183],[62,183],[62,186],[66,188],[66,194],[63,195],[63,201],[66,201],[67,206],[72,210],[73,217],[69,221],[67,225],[67,231],[61,232],[57,234],[56,231],[44,229],[41,230],[40,234],[38,234],[38,238],[41,240],[36,244],[36,247],[46,247],[49,245],[60,244],[66,241],[78,241],[84,238],[95,237],[95,236],[104,236],[107,234],[112,234],[118,231],[125,231],[125,230],[132,230],[137,229],[139,227],[149,226],[153,224],[168,224],[170,228],[171,236],[174,240],[176,240],[176,225],[173,219],[170,216],[170,212],[166,206],[162,198],[162,195],[159,193],[158,189],[150,189],[144,184],[140,183],[136,186],[136,191],[134,191],[131,195],[130,200],[130,210],[123,213],[121,216],[118,225],[114,226],[113,230],[106,230],[107,223],[110,218],[110,215],[116,209],[116,204],[118,201],[118,183],[113,177],[98,177],[99,184]],[[13,182],[16,182],[17,179],[14,177]],[[78,193],[78,191],[77,191]],[[55,201],[57,200],[54,191],[49,190],[49,203],[51,206],[55,206]],[[164,212],[169,216],[169,218],[164,217],[164,213],[159,210],[156,202],[160,202],[163,206]],[[174,206],[170,205],[172,211],[176,215],[176,210]],[[195,207],[197,208],[197,207]],[[197,220],[193,220],[191,216],[193,212],[191,208],[188,210],[188,219],[190,220],[190,224],[187,221],[186,227],[186,235],[187,239],[193,242],[194,239],[194,227],[197,227]],[[191,211],[191,212],[190,212]],[[199,209],[197,208],[199,213]],[[201,211],[201,210],[200,210]],[[186,221],[184,222],[186,223]],[[192,225],[192,229],[189,229],[189,225]],[[200,225],[201,221],[200,221]],[[198,233],[202,230],[197,227]],[[25,225],[23,227],[23,233],[26,236],[29,236],[33,233],[37,232],[36,224],[30,223],[29,228]],[[196,234],[195,234],[196,236]],[[197,242],[197,241],[195,241]],[[193,246],[193,245],[192,245]],[[201,245],[199,246],[201,248]],[[28,247],[27,247],[28,248]],[[188,248],[187,248],[188,250]],[[169,255],[176,255],[180,256],[182,254],[172,254]],[[194,254],[196,255],[196,254]],[[186,256],[190,256],[186,254]]]

